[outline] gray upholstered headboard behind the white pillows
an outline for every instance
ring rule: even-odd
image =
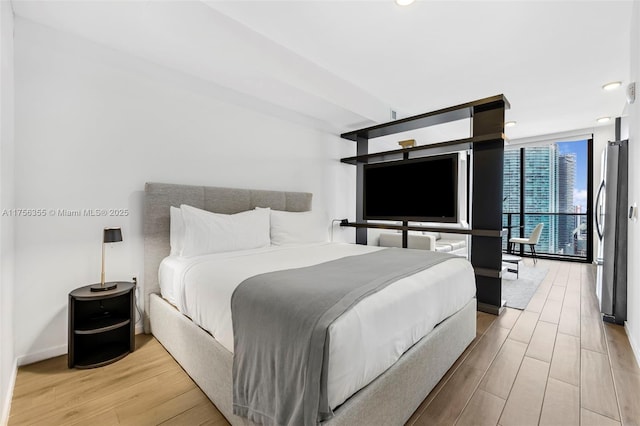
[[[303,212],[311,210],[308,192],[264,191],[211,186],[147,183],[144,188],[144,331],[149,333],[149,295],[160,293],[158,267],[169,255],[169,207],[188,204],[215,213],[233,214],[255,207]]]

